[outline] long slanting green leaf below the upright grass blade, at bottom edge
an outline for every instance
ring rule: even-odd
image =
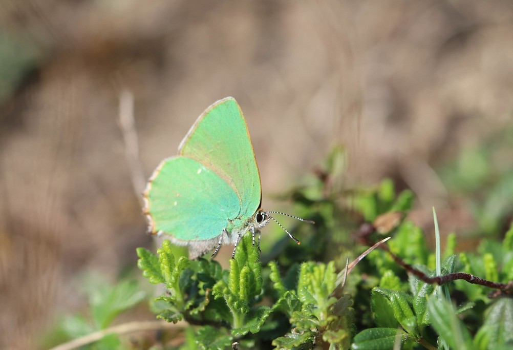
[[[452,304],[445,299],[431,297],[427,301],[431,325],[440,338],[453,349],[472,349],[467,328],[462,324]]]

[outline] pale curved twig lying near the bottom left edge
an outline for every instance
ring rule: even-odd
[[[169,328],[181,328],[185,325],[185,322],[178,323],[169,323],[165,321],[134,321],[119,324],[110,328],[98,330],[98,332],[94,332],[88,334],[87,336],[73,339],[67,343],[57,345],[52,347],[50,350],[72,350],[80,346],[84,346],[87,344],[94,343],[102,339],[103,337],[109,334],[126,334],[132,332],[139,332],[141,330],[152,330],[152,329],[169,329]]]

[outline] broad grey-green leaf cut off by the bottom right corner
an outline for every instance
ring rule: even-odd
[[[500,298],[486,310],[474,342],[480,349],[513,346],[513,300]]]

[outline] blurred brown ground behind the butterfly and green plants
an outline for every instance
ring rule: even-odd
[[[0,347],[35,347],[83,305],[77,276],[114,278],[150,246],[123,91],[145,177],[232,95],[264,205],[342,143],[348,186],[391,176],[429,218],[446,203],[437,164],[511,123],[512,43],[510,1],[4,0]]]

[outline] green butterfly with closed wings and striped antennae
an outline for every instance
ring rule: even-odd
[[[188,246],[190,259],[211,250],[215,256],[223,244],[235,245],[233,257],[246,232],[251,232],[253,245],[259,235],[260,248],[260,229],[271,219],[276,221],[270,213],[279,212],[261,209],[257,160],[235,99],[217,101],[199,116],[178,155],[164,159],[154,170],[144,201],[148,230]]]

